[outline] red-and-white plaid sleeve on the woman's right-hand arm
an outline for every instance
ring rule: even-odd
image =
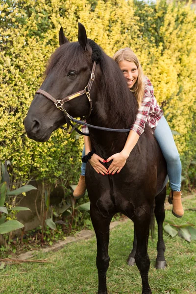
[[[142,104],[138,109],[135,123],[131,126],[131,130],[135,131],[139,136],[144,132],[145,125],[147,123],[150,106],[154,97],[154,88],[148,80],[145,90]]]

